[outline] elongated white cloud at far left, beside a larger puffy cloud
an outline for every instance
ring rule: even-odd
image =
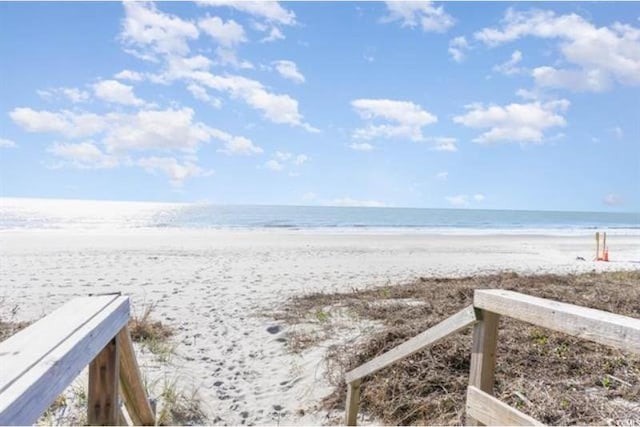
[[[102,116],[92,113],[72,113],[63,110],[59,113],[36,111],[27,107],[14,108],[9,117],[27,132],[57,132],[68,137],[94,135],[105,129]]]

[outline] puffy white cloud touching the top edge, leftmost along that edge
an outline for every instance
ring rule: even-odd
[[[159,11],[151,2],[124,2],[125,18],[120,38],[129,52],[142,59],[156,54],[186,55],[188,41],[198,38],[193,22]]]

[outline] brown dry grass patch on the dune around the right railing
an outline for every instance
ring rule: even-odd
[[[341,306],[383,325],[355,347],[334,346],[328,353],[336,390],[325,405],[342,411],[345,372],[471,304],[473,290],[481,288],[640,317],[638,271],[421,278],[393,287],[302,296],[290,301],[281,316],[295,324],[318,308]],[[361,410],[384,424],[464,424],[470,349],[471,331],[466,330],[365,378]],[[638,424],[640,357],[502,318],[495,395],[546,424]]]

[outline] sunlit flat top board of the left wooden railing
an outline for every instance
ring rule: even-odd
[[[75,298],[0,343],[0,393],[116,298]]]

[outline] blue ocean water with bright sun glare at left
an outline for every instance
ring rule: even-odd
[[[0,230],[110,228],[640,235],[640,213],[0,199]]]

